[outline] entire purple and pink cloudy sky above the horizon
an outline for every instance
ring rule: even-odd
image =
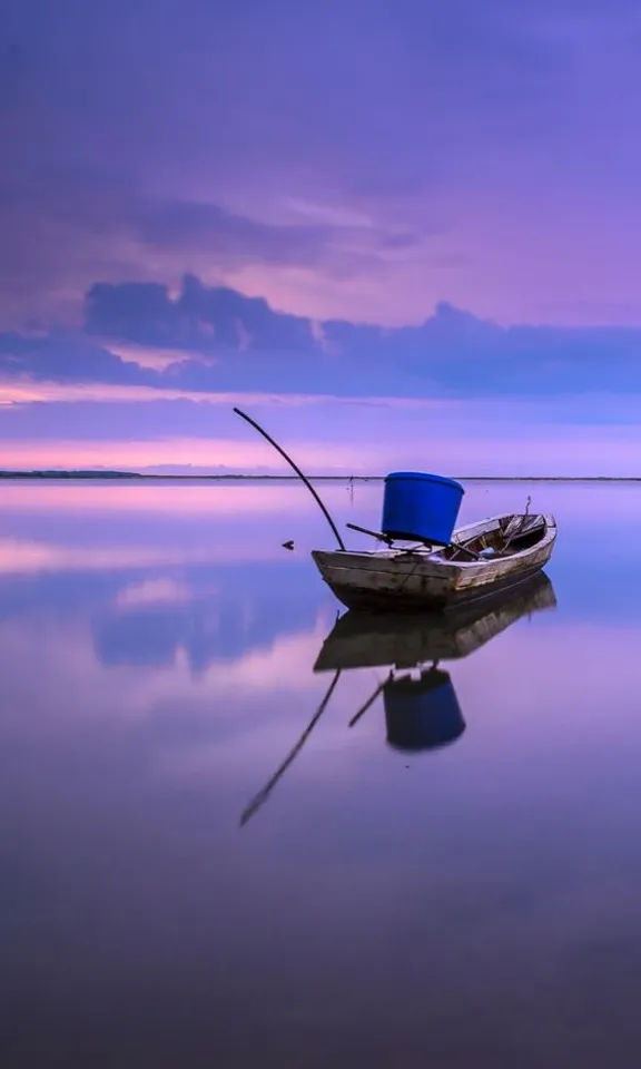
[[[631,0],[6,0],[1,462],[274,465],[243,400],[318,470],[641,471],[640,53]]]

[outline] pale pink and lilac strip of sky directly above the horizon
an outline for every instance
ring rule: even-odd
[[[519,421],[519,414],[516,410],[510,420],[493,424],[454,416],[446,420],[442,415],[407,428],[404,416],[395,413],[385,420],[383,430],[381,421],[378,425],[368,421],[365,425],[359,423],[357,428],[352,425],[335,432],[331,441],[327,432],[318,429],[318,422],[309,424],[299,420],[297,430],[286,434],[279,423],[273,421],[272,430],[308,474],[345,480],[349,475],[381,477],[387,471],[416,469],[456,478],[639,477],[641,434],[637,424],[593,422],[565,426],[544,420],[524,423]],[[214,433],[208,438],[188,438],[175,432],[122,440],[89,437],[7,440],[2,463],[17,471],[107,468],[197,477],[207,473],[290,475],[275,451],[249,431],[245,439]],[[33,487],[27,489],[33,491]],[[345,489],[338,486],[342,508],[347,510],[349,499]],[[140,489],[131,486],[129,492],[137,494]]]

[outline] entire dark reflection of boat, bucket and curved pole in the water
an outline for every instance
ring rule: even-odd
[[[550,579],[539,575],[502,599],[462,607],[450,616],[346,612],[325,639],[314,666],[314,671],[334,673],[329,687],[289,754],[244,811],[240,824],[247,823],[267,801],[300,752],[327,708],[343,671],[388,669],[354,714],[349,727],[383,696],[388,746],[414,754],[437,749],[454,743],[465,730],[450,673],[438,664],[469,657],[522,617],[555,606]]]

